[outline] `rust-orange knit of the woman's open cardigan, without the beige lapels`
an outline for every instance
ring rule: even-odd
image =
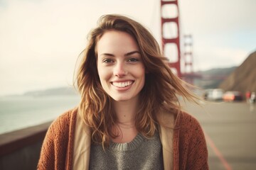
[[[77,113],[77,109],[68,111],[50,125],[43,141],[38,169],[72,169]],[[162,144],[168,142],[166,140],[168,139],[161,139]],[[173,157],[165,157],[164,154],[164,164],[173,162],[170,169],[208,169],[208,151],[203,130],[198,121],[188,113],[181,112],[177,115],[172,142]],[[163,152],[166,152],[164,147]]]

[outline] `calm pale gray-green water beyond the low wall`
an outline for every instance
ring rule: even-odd
[[[0,134],[53,121],[79,101],[79,96],[0,97]]]

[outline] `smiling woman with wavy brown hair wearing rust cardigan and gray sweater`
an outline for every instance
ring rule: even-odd
[[[144,26],[106,15],[91,31],[77,75],[81,101],[54,121],[38,169],[208,169],[196,102]]]

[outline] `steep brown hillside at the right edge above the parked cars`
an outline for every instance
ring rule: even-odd
[[[256,91],[256,52],[252,52],[220,86],[225,91]]]

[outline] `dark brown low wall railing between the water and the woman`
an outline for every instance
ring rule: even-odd
[[[0,169],[34,170],[51,122],[0,135]]]

